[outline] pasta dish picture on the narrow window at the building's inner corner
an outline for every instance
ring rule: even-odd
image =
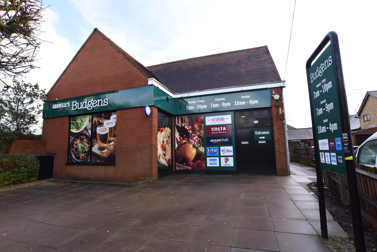
[[[169,166],[172,163],[171,130],[168,127],[159,128],[157,133],[157,158],[162,166]]]

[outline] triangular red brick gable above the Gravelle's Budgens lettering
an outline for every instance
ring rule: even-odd
[[[52,88],[48,101],[147,85],[147,77],[95,31]]]

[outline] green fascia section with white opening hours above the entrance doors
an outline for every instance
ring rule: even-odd
[[[271,90],[262,89],[229,94],[176,98],[173,104],[173,114],[206,113],[271,106]]]

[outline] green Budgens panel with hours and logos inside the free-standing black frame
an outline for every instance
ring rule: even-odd
[[[316,155],[321,169],[346,175],[345,157],[352,148],[351,136],[342,134],[334,58],[331,45],[308,70],[310,99],[317,138]],[[349,155],[349,154],[348,154]],[[352,158],[352,153],[350,154]]]

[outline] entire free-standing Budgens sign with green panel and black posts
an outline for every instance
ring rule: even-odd
[[[328,42],[330,42],[329,45]],[[318,58],[314,61],[317,56]],[[306,71],[316,150],[322,237],[328,238],[322,177],[322,170],[327,170],[347,175],[355,247],[357,252],[362,252],[365,251],[365,241],[342,62],[338,36],[335,32],[329,32],[310,56]]]

